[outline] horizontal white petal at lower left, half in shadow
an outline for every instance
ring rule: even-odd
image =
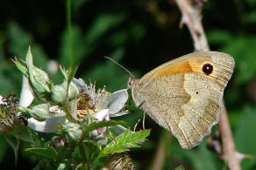
[[[57,124],[65,123],[65,118],[50,118],[45,121],[39,121],[34,118],[27,119],[28,125],[32,130],[41,133],[55,133],[59,127]]]

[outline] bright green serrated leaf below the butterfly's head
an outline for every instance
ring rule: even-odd
[[[112,140],[109,145],[103,148],[99,156],[106,156],[112,153],[123,153],[128,151],[129,147],[138,147],[141,140],[146,139],[150,134],[150,130],[139,131],[132,133],[130,130],[117,136],[116,139]]]

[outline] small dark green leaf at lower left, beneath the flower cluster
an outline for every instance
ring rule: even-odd
[[[57,152],[52,146],[27,148],[25,151],[47,160],[55,160],[57,156]]]

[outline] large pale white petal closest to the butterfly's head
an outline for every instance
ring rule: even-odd
[[[113,92],[108,99],[103,102],[103,108],[110,109],[110,117],[119,112],[128,99],[127,89],[122,89],[117,92]]]

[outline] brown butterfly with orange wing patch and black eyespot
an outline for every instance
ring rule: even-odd
[[[217,124],[234,65],[234,59],[222,52],[193,52],[140,79],[129,78],[128,88],[135,105],[189,149]]]

